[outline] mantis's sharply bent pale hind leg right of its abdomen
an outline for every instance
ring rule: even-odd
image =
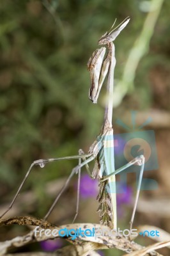
[[[129,163],[125,164],[124,166],[122,166],[121,168],[116,170],[115,172],[112,172],[111,174],[106,175],[105,177],[103,177],[101,179],[101,181],[104,182],[105,180],[108,180],[109,177],[111,177],[112,175],[116,175],[116,174],[122,172],[123,170],[127,169],[129,166],[132,166],[135,163],[137,163],[139,166],[141,166],[141,170],[140,170],[140,174],[139,174],[139,181],[138,181],[138,184],[137,184],[137,193],[135,195],[134,209],[133,209],[133,212],[132,212],[132,217],[130,219],[130,230],[132,229],[132,225],[134,223],[134,216],[135,216],[135,211],[136,211],[136,207],[137,207],[137,201],[138,201],[138,198],[139,198],[139,192],[140,192],[140,189],[141,189],[141,182],[142,182],[142,179],[143,179],[144,156],[141,155],[141,156],[135,157]]]

